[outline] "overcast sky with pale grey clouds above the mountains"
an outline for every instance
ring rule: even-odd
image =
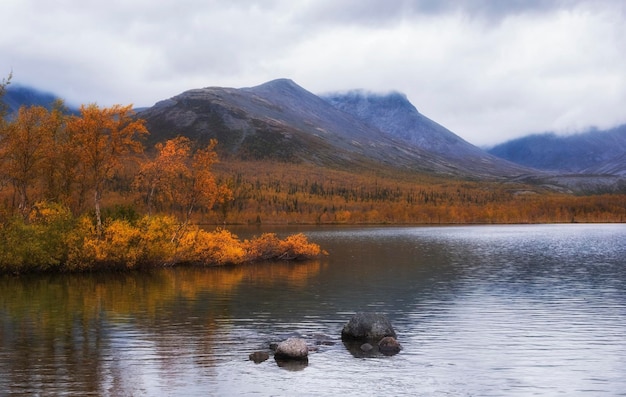
[[[151,106],[290,78],[400,91],[476,145],[626,123],[624,0],[3,0],[0,76]]]

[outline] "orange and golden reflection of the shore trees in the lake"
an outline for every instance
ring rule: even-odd
[[[237,287],[300,287],[321,266],[315,260],[1,278],[0,390],[133,394],[145,386],[137,372],[146,363],[163,384],[190,367],[214,376],[215,347]]]

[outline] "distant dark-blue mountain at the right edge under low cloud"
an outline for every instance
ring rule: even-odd
[[[497,145],[488,152],[541,170],[626,176],[626,125],[568,136],[530,135]]]

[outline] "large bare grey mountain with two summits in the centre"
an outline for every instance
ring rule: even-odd
[[[138,115],[153,141],[176,135],[201,142],[215,138],[226,157],[479,178],[532,173],[473,147],[399,94],[367,98],[320,97],[279,79],[250,88],[189,90]]]

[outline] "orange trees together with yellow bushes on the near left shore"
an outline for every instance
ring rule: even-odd
[[[193,222],[196,212],[233,200],[212,172],[215,141],[196,147],[178,137],[144,153],[148,131],[131,106],[92,104],[68,115],[59,102],[52,109],[21,107],[11,117],[2,112],[0,272],[223,265],[323,253],[303,234],[241,240]]]

